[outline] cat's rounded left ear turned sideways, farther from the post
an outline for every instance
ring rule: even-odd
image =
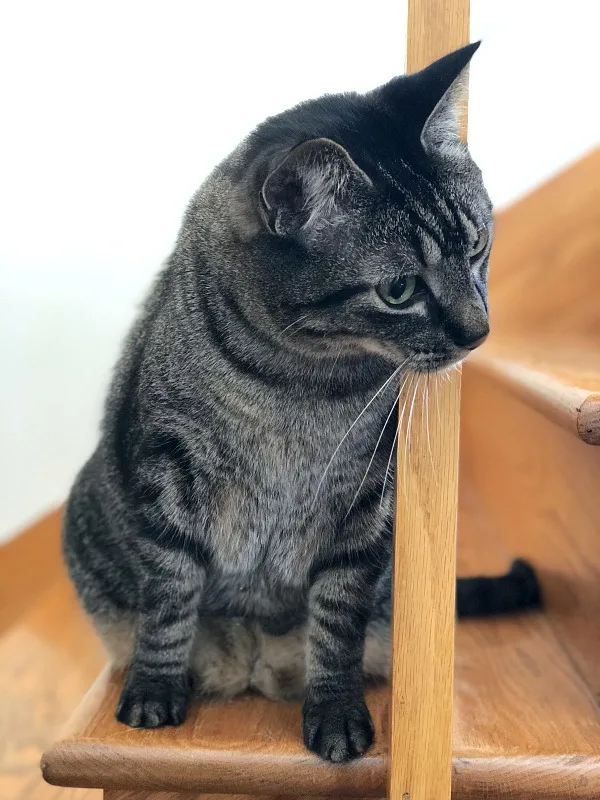
[[[267,176],[261,201],[271,233],[309,234],[344,218],[346,200],[367,175],[331,139],[310,139],[291,150]]]

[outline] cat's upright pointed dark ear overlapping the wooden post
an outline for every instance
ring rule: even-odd
[[[449,150],[460,143],[468,66],[480,44],[461,47],[382,87],[384,98],[388,104],[395,102],[398,113],[410,109],[426,152]]]

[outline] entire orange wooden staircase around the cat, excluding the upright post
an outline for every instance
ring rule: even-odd
[[[545,607],[456,626],[452,788],[459,800],[600,797],[600,340],[592,313],[600,197],[589,196],[590,186],[600,186],[598,152],[500,215],[491,287],[498,325],[464,368],[459,574],[502,572],[524,556],[539,570]],[[561,206],[560,198],[568,202]],[[582,231],[589,209],[595,216]],[[527,226],[526,215],[551,216],[546,237],[554,231],[560,241],[553,245],[535,224]],[[518,281],[513,256],[505,260],[515,229],[527,254]],[[565,236],[573,251],[563,247]],[[547,287],[527,278],[540,242],[552,254],[557,291],[578,271],[582,314],[566,306],[567,326],[556,304],[546,327],[547,316],[536,312],[516,335],[500,300],[519,322],[524,286],[532,295],[547,291],[544,302],[551,303]],[[563,325],[570,335],[550,345]],[[0,551],[0,587],[10,588],[0,619],[2,800],[99,800],[98,789],[44,783],[37,766],[44,748],[47,780],[100,787],[111,800],[386,794],[386,687],[369,694],[376,746],[345,766],[304,750],[297,705],[256,697],[197,704],[180,729],[129,730],[114,721],[119,677],[107,674],[51,745],[103,663],[58,567],[57,530],[55,516]],[[42,559],[30,566],[32,553]],[[25,578],[9,581],[15,574]],[[27,583],[28,575],[35,581]]]

